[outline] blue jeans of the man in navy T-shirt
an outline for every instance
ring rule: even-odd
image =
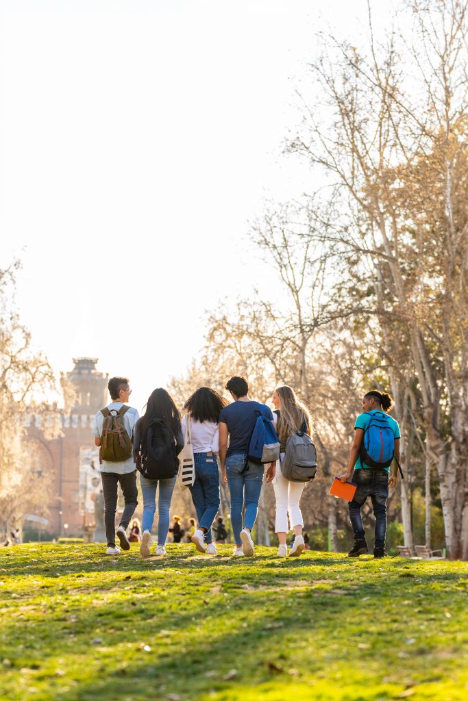
[[[246,528],[253,529],[258,512],[258,500],[262,491],[264,465],[256,465],[248,462],[248,470],[241,474],[246,464],[246,455],[229,455],[226,458],[227,484],[231,495],[231,524],[236,545],[241,545],[242,510],[244,499],[246,512],[243,524]]]

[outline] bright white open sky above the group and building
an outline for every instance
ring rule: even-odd
[[[205,310],[274,294],[248,222],[316,186],[281,155],[295,88],[317,30],[358,42],[360,22],[365,0],[0,0],[0,266],[22,259],[57,372],[99,358],[141,409]]]

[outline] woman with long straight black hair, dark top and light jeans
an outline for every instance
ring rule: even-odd
[[[154,426],[158,426],[156,432]],[[159,522],[158,522],[158,543],[156,545],[156,555],[166,555],[166,538],[169,530],[169,512],[171,509],[171,498],[174,491],[175,479],[177,478],[176,456],[184,447],[184,437],[180,425],[180,411],[175,406],[171,395],[163,388],[157,388],[149,396],[145,414],[138,420],[135,426],[135,438],[133,449],[137,456],[137,465],[144,465],[145,454],[148,450],[148,440],[160,440],[166,435],[169,444],[173,444],[173,454],[168,454],[167,473],[172,477],[149,479],[143,474],[140,475],[140,484],[143,496],[143,517],[142,517],[142,540],[140,554],[143,557],[149,556],[151,544],[151,529],[153,526],[154,513],[156,512],[156,489],[159,484]],[[156,438],[155,438],[156,437]],[[158,438],[159,437],[159,438]],[[154,446],[153,446],[154,447]],[[171,447],[171,445],[169,446]],[[157,449],[157,446],[156,446]],[[171,463],[171,464],[169,464]],[[173,464],[172,464],[173,463]]]

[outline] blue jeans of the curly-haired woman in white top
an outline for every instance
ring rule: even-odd
[[[189,487],[196,518],[206,528],[205,543],[211,543],[211,526],[220,508],[220,473],[215,455],[195,453],[195,482]]]

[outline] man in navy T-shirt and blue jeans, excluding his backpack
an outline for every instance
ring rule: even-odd
[[[233,554],[252,556],[254,545],[250,532],[257,518],[265,466],[247,460],[248,441],[258,418],[255,412],[260,411],[272,422],[273,414],[266,404],[250,399],[245,377],[234,375],[226,383],[226,389],[234,402],[220,412],[220,463],[222,478],[229,484],[231,496],[231,523],[236,543]],[[267,465],[267,482],[274,478],[275,466],[276,463]],[[244,493],[246,512],[242,528]]]

